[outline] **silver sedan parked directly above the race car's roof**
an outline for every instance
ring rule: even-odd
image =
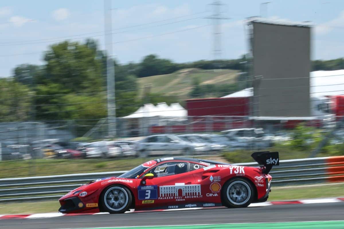
[[[176,135],[161,134],[148,136],[137,143],[140,157],[163,154],[191,154],[195,147]]]

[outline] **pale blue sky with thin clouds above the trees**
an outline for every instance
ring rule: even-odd
[[[148,54],[176,62],[212,59],[212,26],[205,19],[212,14],[211,2],[112,0],[115,58],[121,63],[137,62]],[[238,58],[247,52],[243,20],[259,15],[262,2],[266,1],[222,1],[222,16],[230,18],[221,22],[222,58]],[[311,21],[315,25],[312,59],[343,57],[344,1],[276,0],[264,7],[262,16]],[[150,24],[123,28],[145,23]],[[67,38],[83,41],[82,37],[94,36],[104,49],[102,31],[102,0],[3,0],[0,2],[0,77],[11,76],[19,64],[43,64],[43,52],[49,45]]]

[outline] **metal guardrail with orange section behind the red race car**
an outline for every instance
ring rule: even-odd
[[[258,166],[257,163],[235,165]],[[58,199],[74,188],[126,171],[0,179],[0,202]],[[274,186],[344,182],[344,156],[281,160],[270,174]]]

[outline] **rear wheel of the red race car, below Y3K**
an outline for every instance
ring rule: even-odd
[[[251,182],[242,178],[234,178],[225,183],[222,188],[222,204],[226,207],[247,207],[255,196]]]

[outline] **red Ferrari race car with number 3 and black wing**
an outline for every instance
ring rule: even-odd
[[[148,161],[118,176],[84,184],[59,199],[62,213],[124,213],[129,209],[247,207],[269,197],[278,152],[252,153],[261,167],[192,158]]]

